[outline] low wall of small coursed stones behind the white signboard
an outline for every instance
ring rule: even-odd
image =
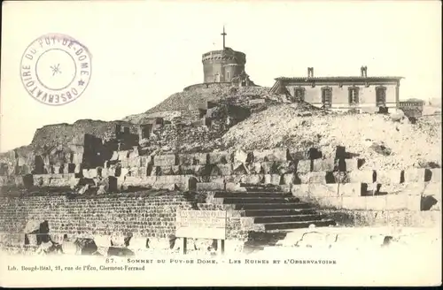
[[[0,233],[5,233],[0,235],[0,243],[24,245],[27,235],[27,242],[35,244],[32,231],[43,221],[48,222],[49,234],[56,242],[62,242],[66,234],[70,239],[93,239],[99,247],[111,246],[110,240],[113,245],[124,244],[129,236],[133,243],[142,240],[144,245],[147,239],[168,243],[175,234],[178,209],[227,210],[228,240],[247,240],[253,228],[252,217],[242,217],[229,205],[198,203],[177,192],[31,195],[0,197]]]

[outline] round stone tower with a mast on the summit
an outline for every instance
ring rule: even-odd
[[[231,82],[245,75],[246,55],[225,46],[223,27],[223,50],[206,52],[202,56],[204,82]]]

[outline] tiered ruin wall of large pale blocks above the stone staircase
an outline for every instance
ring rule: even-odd
[[[330,214],[342,215],[341,224],[349,225],[355,223],[355,213],[368,216],[360,224],[388,225],[388,214],[415,218],[440,212],[440,168],[360,170],[361,159],[296,159],[297,154],[285,149],[156,156],[121,153],[115,156],[119,165],[34,175],[27,182],[43,188],[74,187],[82,179],[92,179],[97,186],[105,184],[108,192],[138,187],[204,193],[236,191],[241,183],[271,184]],[[16,177],[14,182],[24,186],[23,179]]]

